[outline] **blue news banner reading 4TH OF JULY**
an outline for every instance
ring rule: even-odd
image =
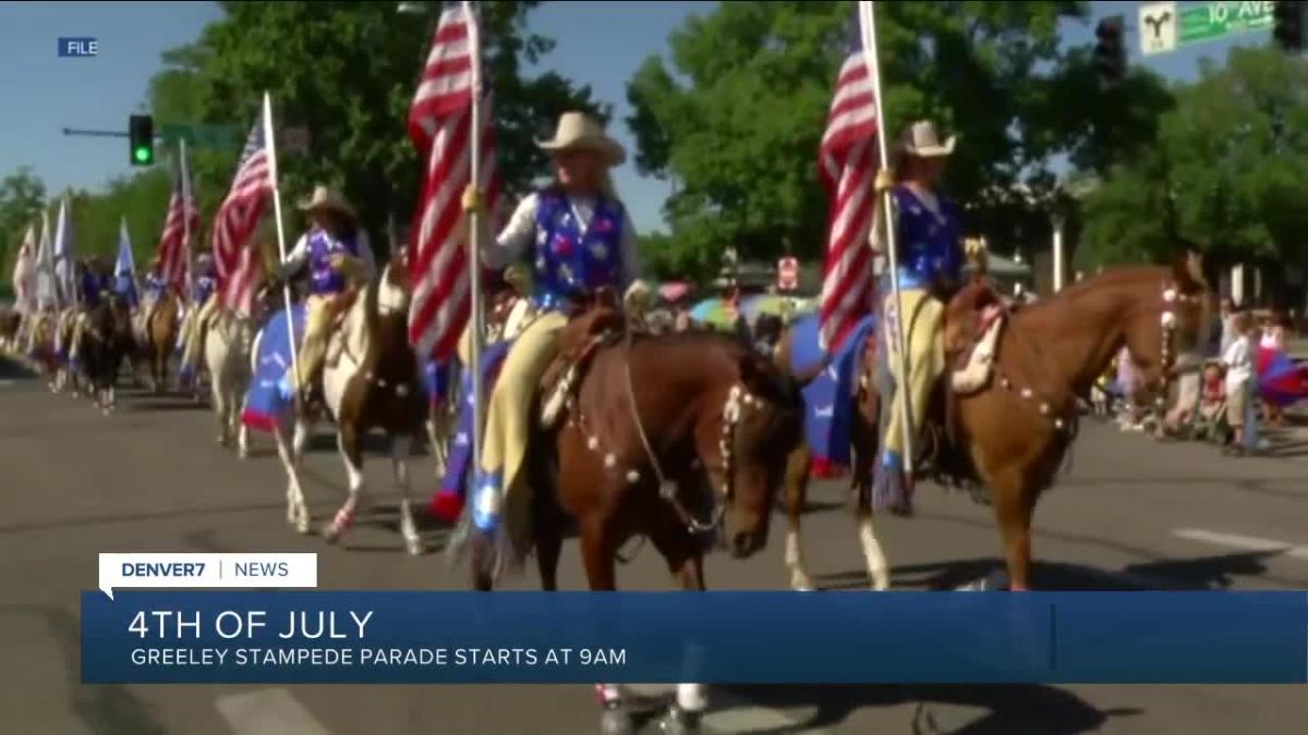
[[[1304,592],[84,592],[85,684],[1308,683]]]

